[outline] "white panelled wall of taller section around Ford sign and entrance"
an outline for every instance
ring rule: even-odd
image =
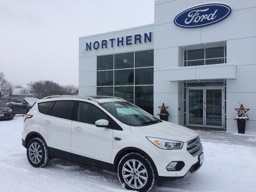
[[[237,65],[237,79],[227,80],[227,131],[237,130],[236,111],[238,102],[244,107],[251,108],[248,111],[250,121],[247,122],[246,131],[256,131],[256,85],[254,84],[256,71],[256,1],[223,0],[228,4],[232,12],[230,16],[214,25],[203,28],[180,28],[173,23],[174,17],[182,10],[201,3],[209,3],[209,0],[157,0],[155,1],[155,64],[157,73],[164,75],[163,68],[178,67],[178,46],[202,44],[202,47],[214,42],[227,42],[227,63]],[[168,51],[167,51],[168,50]],[[168,55],[168,58],[158,58],[157,55]],[[168,61],[167,61],[168,60]],[[164,61],[164,62],[161,62]],[[172,62],[174,61],[174,62]],[[158,75],[160,76],[160,75]],[[154,89],[164,87],[162,92],[172,92],[169,97],[160,97],[161,102],[169,106],[171,118],[169,121],[178,122],[180,100],[179,89],[173,82],[154,82]],[[164,86],[163,86],[163,85]],[[171,88],[170,88],[171,87]],[[177,95],[175,95],[175,93]],[[154,95],[155,95],[154,94]],[[170,93],[169,93],[170,94]],[[160,94],[161,95],[161,94]],[[177,102],[178,101],[178,102]],[[156,102],[154,101],[156,106]],[[173,103],[175,102],[175,103]],[[155,109],[156,110],[156,109]]]

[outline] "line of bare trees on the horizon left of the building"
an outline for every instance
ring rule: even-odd
[[[13,86],[0,72],[0,90],[2,95],[8,95],[10,87],[13,88],[28,88],[33,96],[43,97],[45,95],[76,95],[78,87],[75,85],[60,85],[49,80],[30,81],[26,87],[22,85]]]

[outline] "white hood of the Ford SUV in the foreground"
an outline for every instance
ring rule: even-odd
[[[198,136],[197,132],[187,127],[166,121],[139,127],[130,126],[130,130],[134,134],[143,135],[145,137],[156,137],[182,142],[188,142]]]

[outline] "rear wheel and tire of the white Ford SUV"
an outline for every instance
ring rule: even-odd
[[[44,167],[50,162],[46,143],[40,138],[30,140],[27,146],[27,157],[33,167]]]

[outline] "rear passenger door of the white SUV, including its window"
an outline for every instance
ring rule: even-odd
[[[74,105],[72,100],[55,101],[49,114],[41,120],[39,133],[54,157],[71,160],[70,132]]]

